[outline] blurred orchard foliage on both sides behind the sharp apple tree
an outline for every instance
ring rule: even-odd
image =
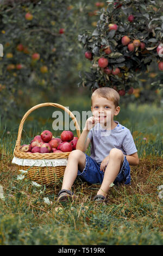
[[[161,1],[157,4],[161,7]],[[83,97],[81,109],[89,108],[91,87],[83,87],[79,71],[89,72],[90,60],[84,56],[78,35],[92,33],[107,7],[106,1],[93,0],[0,2],[1,124],[20,123],[29,108],[42,102],[64,105],[70,99],[73,111],[78,110],[73,101]],[[121,105],[136,102],[161,107],[158,80],[162,81],[162,72],[152,62],[147,72],[140,72],[139,84],[132,84],[133,94],[121,96]]]

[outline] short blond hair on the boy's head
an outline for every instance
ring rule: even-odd
[[[112,89],[110,87],[102,87],[102,88],[96,89],[91,96],[91,106],[92,106],[93,99],[97,96],[104,97],[107,100],[113,101],[115,108],[119,106],[120,95],[117,93],[115,89]]]

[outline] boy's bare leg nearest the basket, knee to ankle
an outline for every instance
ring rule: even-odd
[[[64,179],[62,182],[62,190],[71,190],[73,182],[77,178],[78,169],[83,172],[85,167],[86,156],[85,154],[79,150],[71,151],[68,156],[68,162],[64,173]]]

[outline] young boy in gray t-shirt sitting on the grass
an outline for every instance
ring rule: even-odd
[[[130,166],[139,163],[133,136],[127,127],[114,121],[120,113],[120,95],[103,87],[91,97],[92,117],[86,120],[76,150],[71,151],[64,173],[58,202],[74,197],[71,187],[77,176],[91,184],[101,183],[95,201],[105,201],[110,184],[130,184]],[[91,143],[91,156],[85,154]]]

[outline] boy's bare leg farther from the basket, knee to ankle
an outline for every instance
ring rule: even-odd
[[[105,169],[104,179],[97,194],[106,197],[110,184],[116,179],[124,160],[124,155],[120,149],[112,149],[109,154],[109,162]]]

